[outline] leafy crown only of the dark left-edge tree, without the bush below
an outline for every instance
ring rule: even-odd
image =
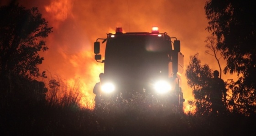
[[[43,38],[52,27],[42,18],[36,7],[25,9],[18,4],[0,7],[0,75],[38,77],[38,65],[42,63],[39,51],[47,51]]]

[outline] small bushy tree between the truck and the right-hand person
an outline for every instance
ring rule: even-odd
[[[196,114],[208,115],[210,113],[208,85],[209,79],[212,77],[212,71],[207,64],[201,65],[201,61],[198,59],[198,53],[190,56],[185,75],[187,77],[187,84],[192,88],[195,98]]]

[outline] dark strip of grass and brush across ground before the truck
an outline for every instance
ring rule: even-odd
[[[162,114],[158,106],[145,107],[141,99],[108,110],[89,110],[47,103],[5,107],[0,131],[5,136],[255,136],[256,116],[222,117]],[[133,104],[136,103],[136,106]],[[157,105],[157,103],[155,103]],[[164,109],[164,108],[162,108]],[[164,111],[165,112],[165,111]]]

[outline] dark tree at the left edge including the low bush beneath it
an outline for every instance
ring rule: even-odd
[[[48,26],[36,7],[25,9],[14,3],[0,7],[0,19],[1,104],[44,99],[47,89],[43,82],[33,79],[46,78],[45,72],[39,73],[38,65],[43,57],[38,52],[48,50],[44,38],[53,27]]]

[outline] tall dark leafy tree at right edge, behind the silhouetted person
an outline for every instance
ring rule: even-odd
[[[208,31],[217,37],[216,48],[227,62],[224,73],[238,76],[229,82],[230,104],[247,114],[256,113],[255,7],[250,0],[210,0],[205,5]]]

